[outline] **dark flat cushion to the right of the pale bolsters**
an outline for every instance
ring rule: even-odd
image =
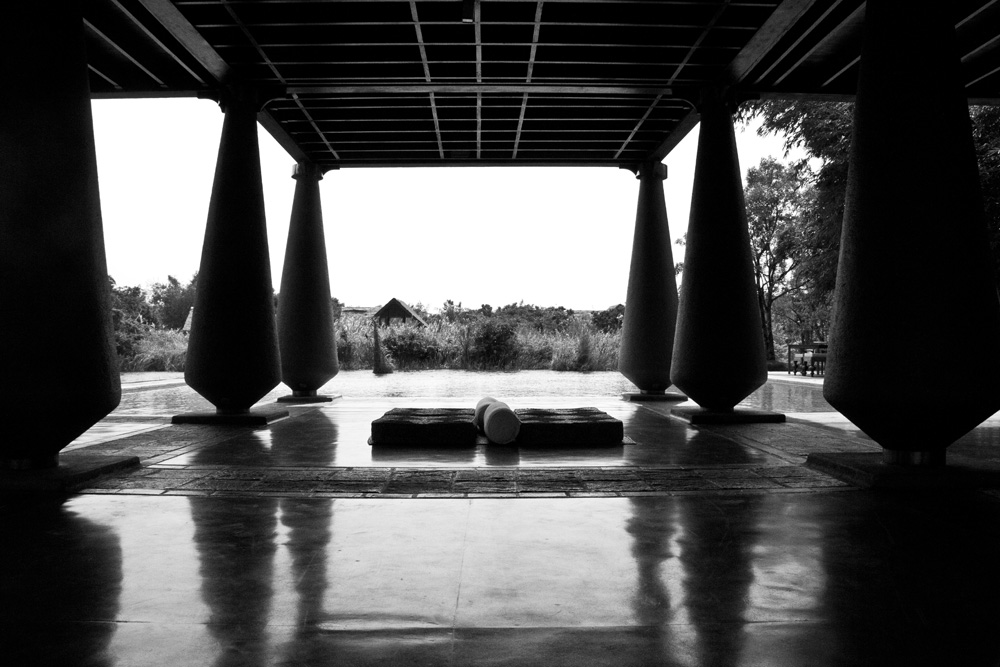
[[[521,420],[518,446],[620,445],[625,427],[620,419],[597,408],[515,410]]]

